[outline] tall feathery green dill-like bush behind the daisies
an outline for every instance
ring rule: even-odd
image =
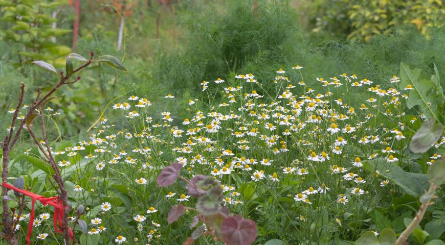
[[[193,2],[178,18],[179,48],[158,49],[153,78],[176,91],[199,91],[203,80],[227,79],[235,71],[272,79],[272,67],[300,56],[297,19],[285,1],[227,1],[217,7]]]

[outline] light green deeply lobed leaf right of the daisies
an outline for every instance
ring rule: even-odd
[[[434,82],[430,80],[419,81],[420,69],[410,70],[405,63],[400,63],[400,90],[403,90],[407,85],[412,86],[409,90],[407,107],[409,109],[414,106],[419,106],[422,112],[428,117],[434,117],[438,121],[437,106],[442,101],[432,92],[435,88]]]

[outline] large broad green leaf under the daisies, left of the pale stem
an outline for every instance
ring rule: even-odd
[[[430,186],[428,176],[425,174],[405,172],[394,162],[387,162],[384,158],[369,160],[363,164],[370,172],[377,171],[381,176],[391,180],[402,187],[404,191],[413,197],[422,195]]]

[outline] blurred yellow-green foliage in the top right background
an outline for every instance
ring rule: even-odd
[[[313,31],[361,41],[399,24],[414,24],[426,34],[429,28],[443,26],[445,18],[441,0],[316,0],[303,9]]]

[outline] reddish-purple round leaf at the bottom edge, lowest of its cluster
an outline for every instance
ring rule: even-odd
[[[256,225],[253,220],[235,214],[222,222],[221,234],[226,245],[250,245],[256,239]]]

